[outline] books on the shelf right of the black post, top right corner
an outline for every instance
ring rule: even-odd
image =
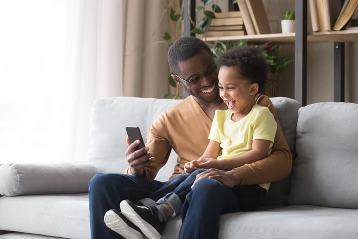
[[[350,20],[358,0],[345,0],[342,7],[337,0],[309,0],[313,32],[339,31]]]

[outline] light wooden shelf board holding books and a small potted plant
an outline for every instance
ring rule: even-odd
[[[272,41],[275,43],[294,43],[295,33],[271,33],[261,35],[227,36],[227,37],[201,37],[202,40],[211,41],[235,41],[250,39],[251,42],[264,43]],[[356,42],[358,41],[358,30],[342,30],[329,32],[311,32],[307,34],[307,42]]]

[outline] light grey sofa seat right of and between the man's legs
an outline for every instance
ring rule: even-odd
[[[286,206],[220,216],[219,239],[356,239],[358,210],[317,206]],[[166,224],[162,239],[178,234],[181,218]]]

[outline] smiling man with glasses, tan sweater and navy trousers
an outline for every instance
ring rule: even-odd
[[[195,37],[178,39],[169,49],[168,62],[173,78],[190,96],[173,108],[163,112],[153,122],[145,148],[134,151],[139,142],[129,145],[126,156],[129,167],[126,174],[97,174],[89,182],[89,210],[92,238],[142,238],[139,228],[120,212],[113,211],[107,222],[104,214],[119,209],[119,203],[128,199],[134,203],[164,190],[166,182],[153,181],[158,170],[167,162],[171,149],[178,154],[177,165],[170,179],[184,180],[184,164],[198,159],[209,142],[208,134],[216,109],[226,109],[219,97],[218,75],[213,55],[205,43]],[[277,113],[267,96],[258,95],[256,102],[267,106],[274,115],[278,127],[272,153],[257,162],[223,172],[209,169],[197,175],[195,187],[188,195],[181,210],[183,223],[180,238],[209,239],[218,237],[219,215],[234,211],[251,210],[261,198],[250,198],[242,187],[242,194],[249,197],[234,211],[225,204],[236,198],[228,188],[235,185],[269,183],[289,175],[292,156],[279,125]],[[128,139],[127,139],[128,142]],[[143,155],[144,154],[144,155]],[[141,156],[142,155],[142,156]],[[180,174],[179,177],[176,177]],[[207,185],[205,178],[216,179],[220,184]],[[201,183],[199,183],[199,181]],[[215,189],[214,189],[215,187]],[[153,197],[151,197],[153,198]],[[141,202],[146,205],[146,202]],[[192,210],[190,210],[192,208]],[[112,224],[116,221],[116,228]],[[159,229],[160,231],[160,229]]]

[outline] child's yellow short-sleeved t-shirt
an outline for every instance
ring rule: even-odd
[[[216,110],[209,139],[220,143],[221,155],[217,159],[233,158],[252,150],[253,140],[269,140],[272,151],[277,123],[267,107],[255,104],[241,120],[231,120],[231,110]],[[260,184],[268,190],[269,184]]]

